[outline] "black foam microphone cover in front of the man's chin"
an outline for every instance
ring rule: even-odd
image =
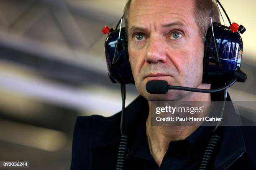
[[[147,92],[151,94],[165,94],[168,92],[168,82],[165,80],[151,80],[146,84]]]

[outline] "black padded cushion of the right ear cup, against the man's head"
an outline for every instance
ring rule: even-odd
[[[202,76],[203,83],[211,83],[207,76],[211,40],[212,40],[212,28],[209,27],[205,35],[205,52],[204,52],[204,59],[203,59],[203,76]]]

